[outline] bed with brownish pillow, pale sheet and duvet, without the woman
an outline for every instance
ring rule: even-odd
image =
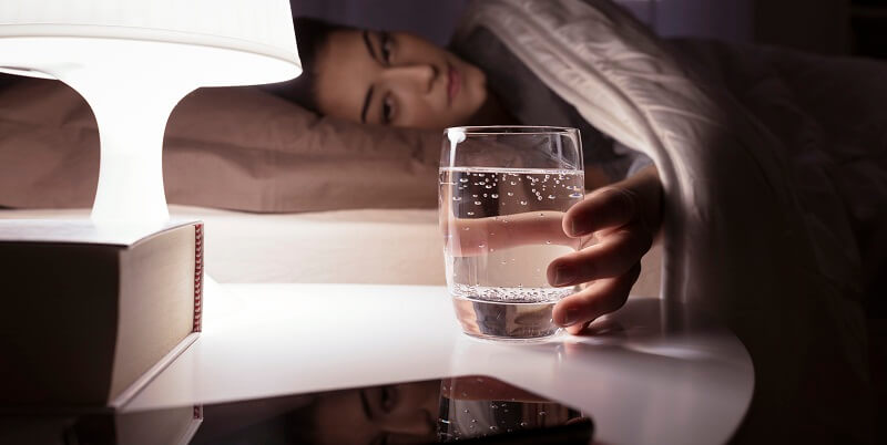
[[[595,127],[656,163],[665,236],[634,292],[704,304],[750,349],[745,438],[869,441],[880,376],[869,345],[884,338],[871,334],[861,277],[883,270],[877,258],[866,270],[867,255],[887,251],[887,68],[666,42],[609,1],[475,6],[462,35],[491,29]],[[3,217],[86,207],[94,190],[91,113],[39,82],[0,92],[0,206],[30,209]],[[176,108],[170,201],[253,213],[175,208],[207,221],[211,275],[441,283],[440,134],[349,125],[252,89],[198,91]]]

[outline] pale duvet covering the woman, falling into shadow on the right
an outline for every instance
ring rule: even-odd
[[[457,38],[488,28],[594,126],[655,161],[663,296],[708,306],[755,362],[742,434],[869,441],[860,299],[873,250],[857,229],[884,231],[887,68],[665,42],[603,0],[485,0],[467,17]]]

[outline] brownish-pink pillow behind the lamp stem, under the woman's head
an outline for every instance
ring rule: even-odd
[[[257,213],[434,207],[441,133],[318,116],[256,87],[201,89],[173,111],[171,204]],[[0,206],[89,207],[99,178],[91,108],[61,82],[0,90]]]

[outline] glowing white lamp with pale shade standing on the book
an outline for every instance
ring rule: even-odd
[[[173,107],[201,86],[302,73],[287,0],[2,0],[0,71],[58,79],[92,107],[96,224],[169,217],[162,145]]]

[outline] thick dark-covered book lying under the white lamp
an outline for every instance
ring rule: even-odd
[[[125,404],[201,330],[203,224],[0,220],[0,408]]]

